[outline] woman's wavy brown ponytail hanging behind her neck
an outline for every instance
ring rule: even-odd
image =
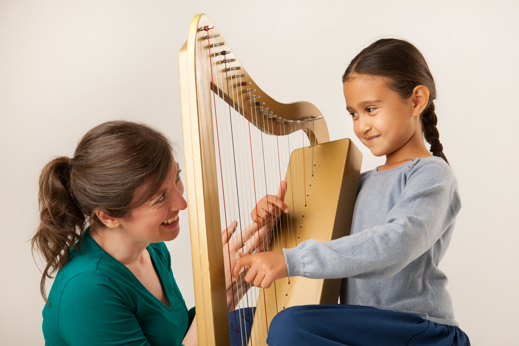
[[[46,266],[40,281],[45,302],[45,280],[69,261],[70,250],[77,248],[85,226],[85,215],[79,209],[70,189],[71,159],[61,156],[47,163],[39,176],[40,223],[32,238],[33,251],[43,256]]]

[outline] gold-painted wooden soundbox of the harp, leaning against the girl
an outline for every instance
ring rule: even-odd
[[[307,150],[312,149],[296,149],[290,156],[285,178],[289,188],[284,199],[290,213],[280,220],[280,231],[274,232],[271,251],[295,247],[308,239],[326,242],[349,235],[362,154],[349,139],[318,144],[311,177],[312,161],[298,159],[308,156]],[[305,172],[306,176],[296,172]],[[305,203],[294,205],[293,195],[301,200],[305,194],[308,195],[306,207]],[[297,305],[336,304],[339,289],[340,279],[302,276],[276,280],[270,288],[261,289],[249,345],[265,344],[265,331],[279,311]]]

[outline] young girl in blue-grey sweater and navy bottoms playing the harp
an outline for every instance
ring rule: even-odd
[[[436,129],[429,67],[407,41],[379,39],[351,61],[343,83],[355,134],[386,155],[360,176],[351,235],[244,255],[233,275],[250,266],[245,280],[261,287],[285,276],[346,278],[341,305],[278,313],[270,346],[470,345],[438,268],[461,203]]]

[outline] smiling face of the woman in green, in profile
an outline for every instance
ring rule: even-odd
[[[171,171],[155,195],[133,209],[128,220],[120,220],[125,233],[134,241],[158,243],[179,235],[179,211],[187,207],[179,173],[179,165],[173,161]]]

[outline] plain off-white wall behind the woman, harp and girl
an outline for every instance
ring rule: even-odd
[[[312,102],[331,140],[352,138],[363,171],[384,158],[353,134],[340,81],[347,63],[379,37],[405,38],[424,53],[463,205],[440,265],[455,317],[473,345],[517,344],[518,10],[511,1],[1,0],[0,343],[44,344],[40,272],[27,242],[38,224],[39,171],[108,119],[153,124],[182,147],[177,53],[203,12],[267,93]],[[187,211],[180,217],[168,247],[190,307]]]

